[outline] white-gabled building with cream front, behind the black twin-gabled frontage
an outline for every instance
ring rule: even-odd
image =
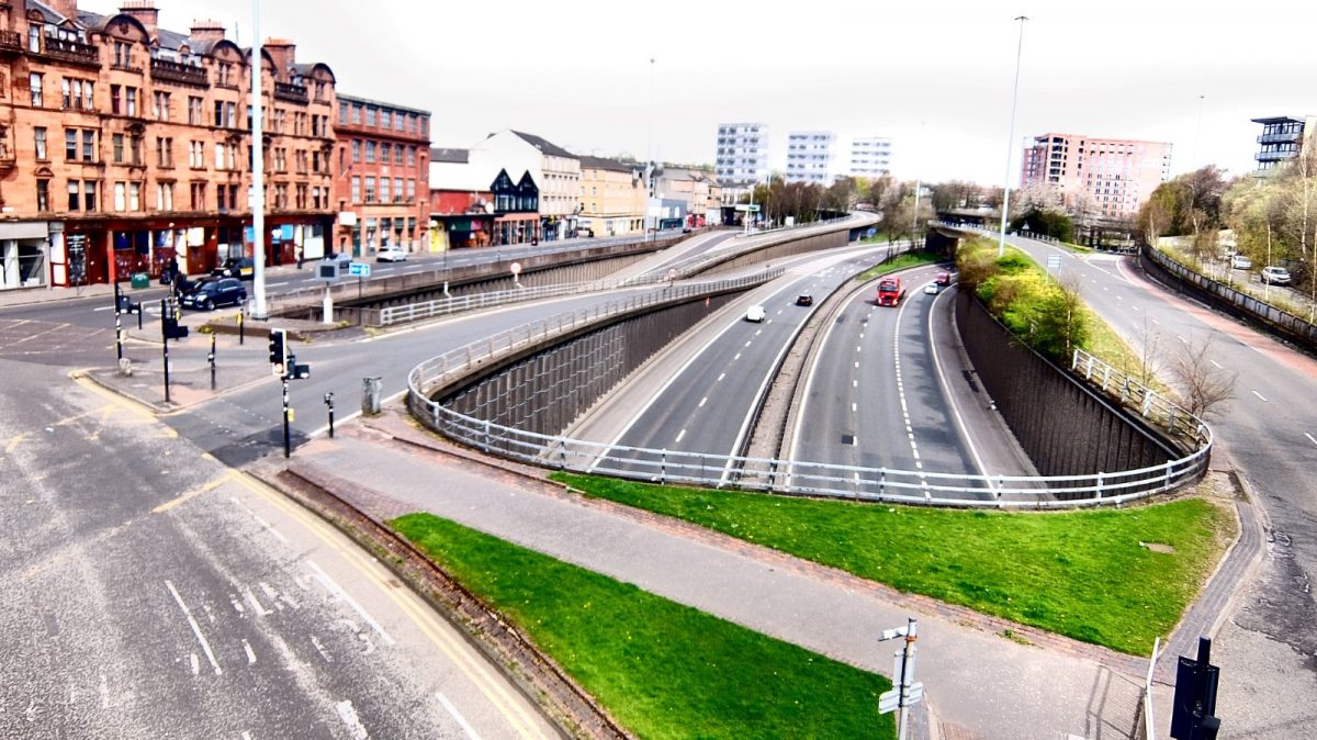
[[[495,175],[507,170],[514,182],[522,172],[531,174],[539,190],[540,224],[527,238],[551,241],[576,232],[581,205],[581,159],[576,154],[537,136],[502,130],[473,145],[469,158],[477,170]]]

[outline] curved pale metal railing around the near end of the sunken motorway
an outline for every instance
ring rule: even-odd
[[[619,307],[593,317],[598,328]],[[590,319],[572,316],[569,325]],[[994,508],[1064,508],[1121,504],[1196,481],[1206,467],[1210,431],[1198,427],[1196,449],[1183,457],[1135,469],[1092,467],[1098,473],[1052,475],[969,475],[828,465],[747,456],[705,454],[652,448],[631,448],[561,433],[519,429],[491,419],[465,413],[435,400],[456,394],[462,378],[477,374],[499,357],[508,357],[532,342],[548,349],[561,319],[539,321],[490,340],[482,340],[417,365],[408,374],[407,403],[412,415],[432,431],[486,454],[558,470],[594,473],[656,483],[735,487],[773,494],[830,496],[873,502]],[[544,377],[552,378],[552,374]],[[495,391],[497,392],[497,391]],[[547,391],[545,391],[547,392]],[[489,399],[486,399],[489,400]],[[1067,413],[1068,410],[1054,410]],[[1133,437],[1125,437],[1126,441]]]

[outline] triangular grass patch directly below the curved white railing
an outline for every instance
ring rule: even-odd
[[[589,496],[673,516],[901,591],[1146,656],[1225,548],[1201,499],[1001,514],[680,489],[556,473]],[[1172,553],[1142,542],[1163,544]]]

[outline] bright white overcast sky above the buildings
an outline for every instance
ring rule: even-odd
[[[155,7],[166,29],[213,18],[252,43],[249,0]],[[1172,174],[1241,174],[1262,133],[1250,119],[1317,113],[1310,0],[265,0],[261,13],[262,37],[291,38],[340,91],[431,111],[435,146],[514,128],[582,154],[712,163],[718,124],[755,121],[778,169],[788,132],[824,129],[890,137],[902,179],[1001,184],[1021,14],[1013,187],[1026,136],[1169,141]]]

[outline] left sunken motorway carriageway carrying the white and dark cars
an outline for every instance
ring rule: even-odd
[[[693,454],[735,454],[748,433],[748,415],[766,390],[777,358],[817,309],[817,304],[795,305],[795,296],[811,292],[822,302],[836,284],[871,266],[874,251],[864,248],[823,258],[797,258],[782,278],[728,307],[726,329],[633,412],[612,444]],[[745,321],[745,308],[752,304],[766,308],[764,323]]]

